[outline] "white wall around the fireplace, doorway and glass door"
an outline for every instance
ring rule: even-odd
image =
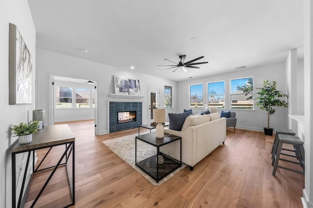
[[[97,97],[98,97],[98,131],[99,134],[108,133],[108,100],[126,100],[120,98],[108,97],[114,93],[113,76],[126,76],[136,78],[140,81],[141,95],[143,101],[143,123],[147,123],[147,96],[148,87],[160,89],[161,108],[164,107],[163,90],[164,85],[173,86],[174,92],[174,108],[177,105],[177,82],[158,78],[154,76],[136,73],[135,70],[122,70],[105,64],[87,61],[75,57],[69,57],[42,49],[37,49],[37,71],[38,71],[38,106],[37,109],[45,110],[45,123],[49,121],[49,76],[64,76],[78,79],[87,79],[97,81]],[[147,69],[149,70],[149,69]],[[50,87],[51,88],[51,87]],[[134,99],[132,99],[135,101]],[[175,109],[168,109],[168,113],[175,112]]]

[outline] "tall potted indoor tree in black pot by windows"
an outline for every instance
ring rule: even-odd
[[[256,88],[259,90],[255,99],[258,100],[255,105],[260,106],[261,110],[265,110],[268,113],[268,127],[264,128],[265,135],[273,135],[273,129],[269,128],[269,116],[275,113],[275,107],[287,108],[288,104],[285,100],[281,100],[282,97],[287,97],[288,95],[283,94],[281,91],[276,89],[276,81],[269,82],[268,80],[263,80],[263,87]]]

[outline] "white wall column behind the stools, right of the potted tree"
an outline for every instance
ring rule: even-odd
[[[286,59],[286,92],[288,99],[288,114],[297,115],[297,49],[290,50]],[[290,117],[287,121],[288,129],[297,129],[297,122]]]

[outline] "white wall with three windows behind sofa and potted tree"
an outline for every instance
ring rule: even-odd
[[[252,69],[239,70],[232,73],[206,76],[197,79],[191,79],[178,83],[178,98],[179,105],[178,111],[182,112],[183,109],[188,108],[189,103],[189,85],[203,83],[203,102],[207,100],[207,82],[214,81],[225,81],[225,109],[230,108],[230,95],[229,95],[229,80],[235,78],[242,78],[253,76],[254,77],[254,93],[257,91],[255,88],[262,87],[262,81],[268,79],[269,81],[277,81],[277,89],[285,93],[286,76],[285,76],[285,62],[279,64],[273,64],[268,66],[262,66]],[[198,113],[202,109],[195,109],[194,112]],[[219,110],[220,111],[220,110]],[[255,106],[254,110],[231,110],[236,112],[237,117],[237,128],[248,129],[255,131],[263,131],[264,127],[267,127],[267,113]],[[287,120],[287,109],[277,108],[276,113],[270,116],[270,127],[271,128],[286,128]]]

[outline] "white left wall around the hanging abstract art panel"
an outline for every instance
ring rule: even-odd
[[[9,23],[15,24],[32,55],[35,71],[36,31],[26,0],[0,1],[0,207],[12,206],[11,149],[17,137],[11,137],[10,125],[32,119],[35,109],[35,72],[33,71],[32,104],[9,105]],[[17,161],[17,164],[19,161]]]

